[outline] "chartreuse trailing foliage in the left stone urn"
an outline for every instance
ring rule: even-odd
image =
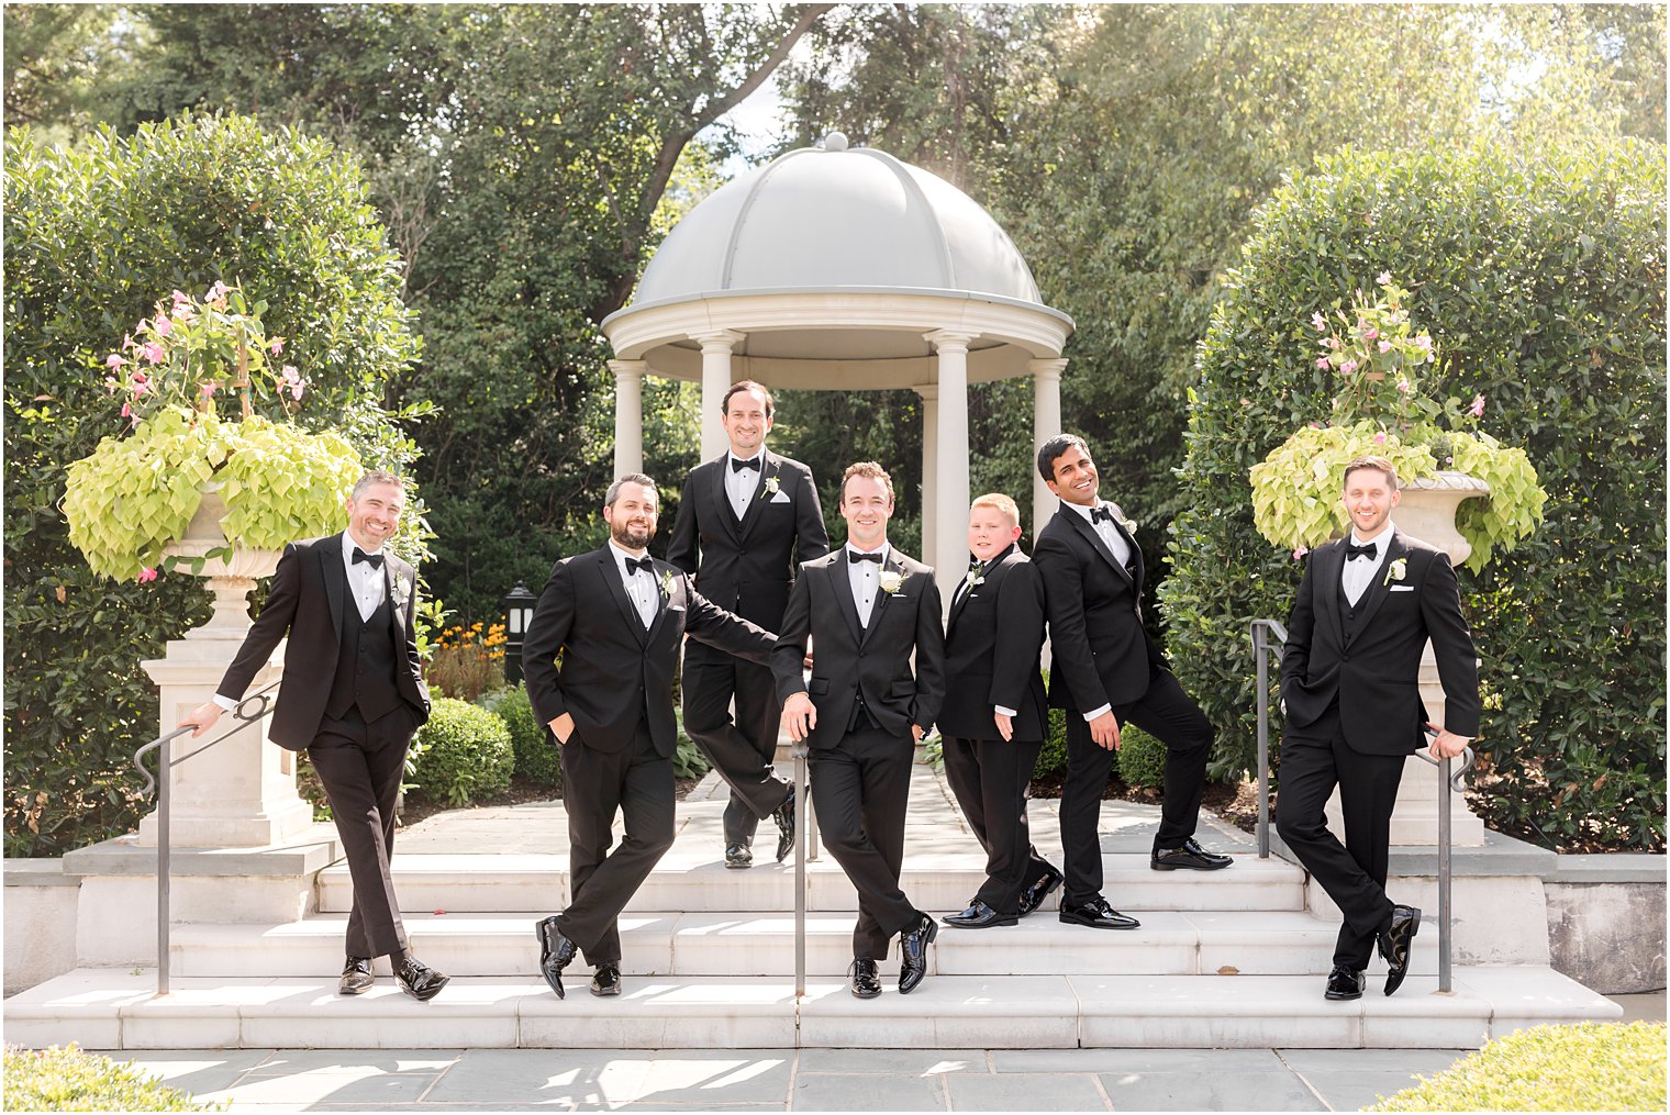
[[[70,464],[63,516],[87,564],[125,581],[160,564],[209,486],[225,501],[230,541],[279,549],[342,529],[361,472],[354,449],[329,431],[167,407]]]

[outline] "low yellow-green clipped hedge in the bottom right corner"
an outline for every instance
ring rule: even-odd
[[[1531,1027],[1369,1112],[1662,1112],[1665,1023]]]

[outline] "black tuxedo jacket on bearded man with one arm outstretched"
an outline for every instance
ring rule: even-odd
[[[673,668],[686,633],[740,658],[770,661],[772,633],[708,603],[673,564],[656,561],[655,576],[661,603],[645,631],[608,544],[551,568],[523,639],[528,698],[541,724],[568,713],[579,743],[621,751],[646,718],[655,749],[671,754],[678,746]]]

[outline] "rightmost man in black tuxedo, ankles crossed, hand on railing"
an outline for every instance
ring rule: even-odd
[[[1436,733],[1433,758],[1478,736],[1478,659],[1461,616],[1450,556],[1391,522],[1398,471],[1384,457],[1346,466],[1351,537],[1319,546],[1304,566],[1281,658],[1286,729],[1276,830],[1344,915],[1326,998],[1363,996],[1376,943],[1386,995],[1409,970],[1421,911],[1386,896],[1391,810],[1404,759]],[[1431,723],[1416,688],[1428,639],[1445,688]],[[1346,843],[1328,831],[1334,786]]]

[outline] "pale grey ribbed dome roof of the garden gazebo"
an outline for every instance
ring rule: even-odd
[[[668,234],[633,307],[713,294],[945,290],[1040,304],[995,220],[944,179],[832,135],[726,184]],[[625,310],[623,310],[625,312]]]

